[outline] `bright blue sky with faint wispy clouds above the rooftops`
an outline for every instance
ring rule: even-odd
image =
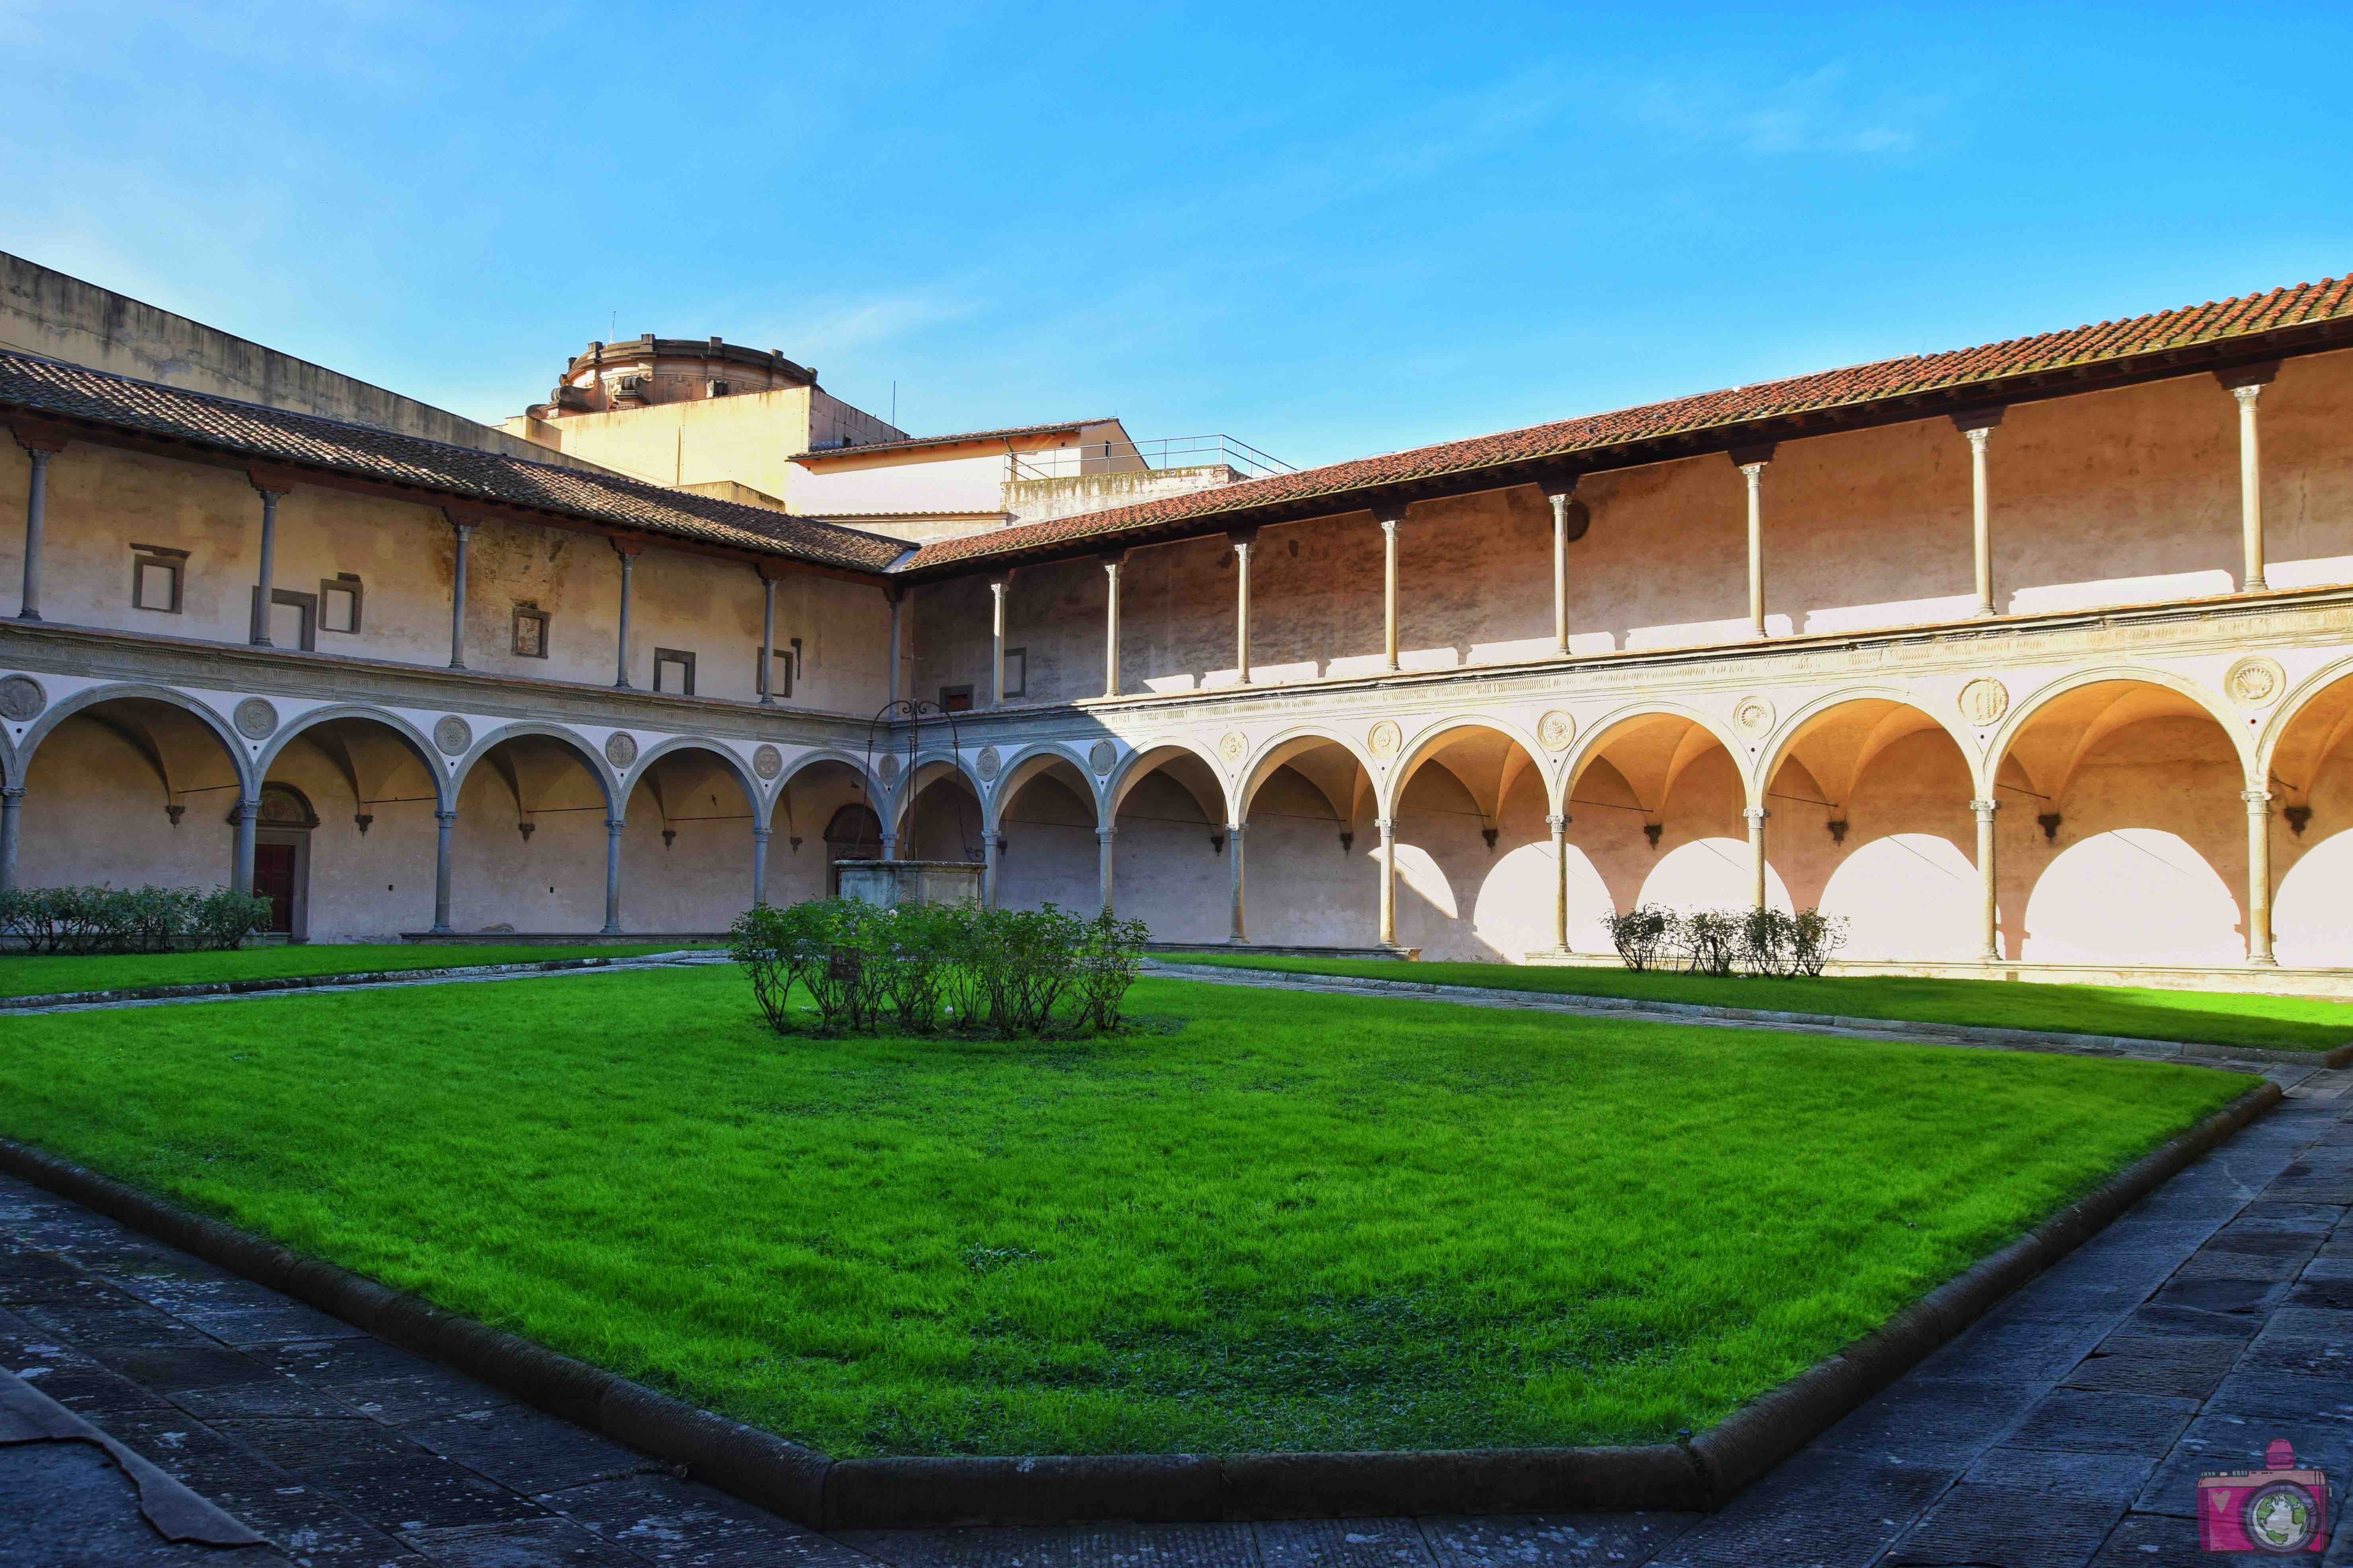
[[[1322,463],[2353,268],[2353,7],[0,0],[0,249],[478,418],[722,334]]]

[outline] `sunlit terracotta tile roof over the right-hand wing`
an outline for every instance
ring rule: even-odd
[[[1412,451],[1388,451],[1351,463],[1329,463],[1299,473],[1245,480],[1219,489],[1167,496],[1141,505],[1125,505],[1108,512],[1085,512],[1056,517],[1014,529],[944,538],[925,545],[906,562],[906,571],[946,569],[965,562],[979,564],[988,557],[1019,550],[1101,543],[1113,545],[1122,534],[1148,534],[1188,520],[1226,517],[1249,512],[1261,505],[1315,501],[1332,496],[1334,512],[1348,510],[1341,501],[1348,491],[1374,489],[1445,475],[1468,475],[1482,468],[1558,458],[1569,454],[1600,456],[1609,447],[1645,442],[1666,435],[1729,430],[1748,421],[1784,414],[1864,407],[1880,400],[1953,390],[1969,383],[1998,383],[2007,376],[2066,369],[2104,360],[2160,353],[2193,343],[2214,343],[2233,336],[2249,336],[2299,322],[2320,322],[2353,315],[2353,275],[2299,282],[2292,289],[2247,294],[2242,299],[2209,301],[2181,310],[2160,310],[2118,322],[2094,322],[2068,331],[2042,331],[2007,343],[1979,348],[1955,348],[1937,355],[1906,355],[1875,364],[1852,364],[1845,369],[1812,371],[1781,381],[1737,386],[1694,397],[1652,402],[1614,414],[1591,414],[1565,418],[1525,430],[1478,435],[1438,447]],[[1649,458],[1645,458],[1649,461]],[[1235,517],[1242,522],[1242,517]]]

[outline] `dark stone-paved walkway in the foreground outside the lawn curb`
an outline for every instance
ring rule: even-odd
[[[1706,1519],[826,1537],[5,1178],[0,1371],[273,1542],[153,1561],[2188,1568],[2228,1561],[2195,1549],[2200,1469],[2285,1436],[2353,1483],[2353,1070],[2273,1077],[2271,1117]],[[68,1505],[122,1495],[87,1453],[0,1446],[0,1563],[151,1561],[38,1556]]]

